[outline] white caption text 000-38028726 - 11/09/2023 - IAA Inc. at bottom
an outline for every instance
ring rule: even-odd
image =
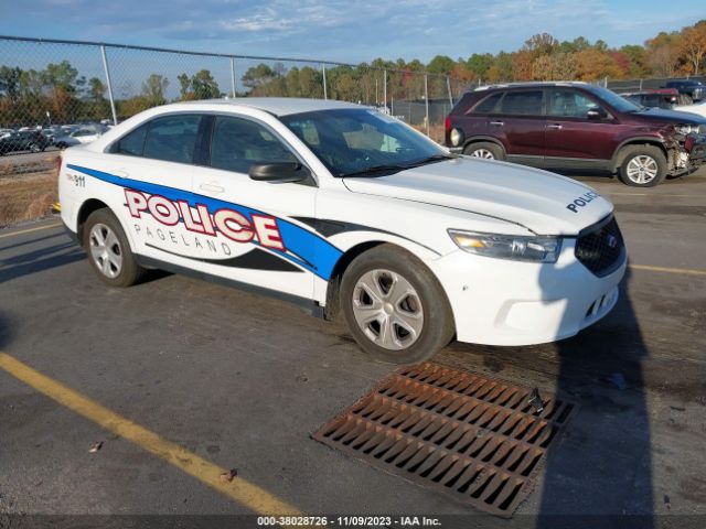
[[[440,527],[428,516],[260,516],[258,527]]]

